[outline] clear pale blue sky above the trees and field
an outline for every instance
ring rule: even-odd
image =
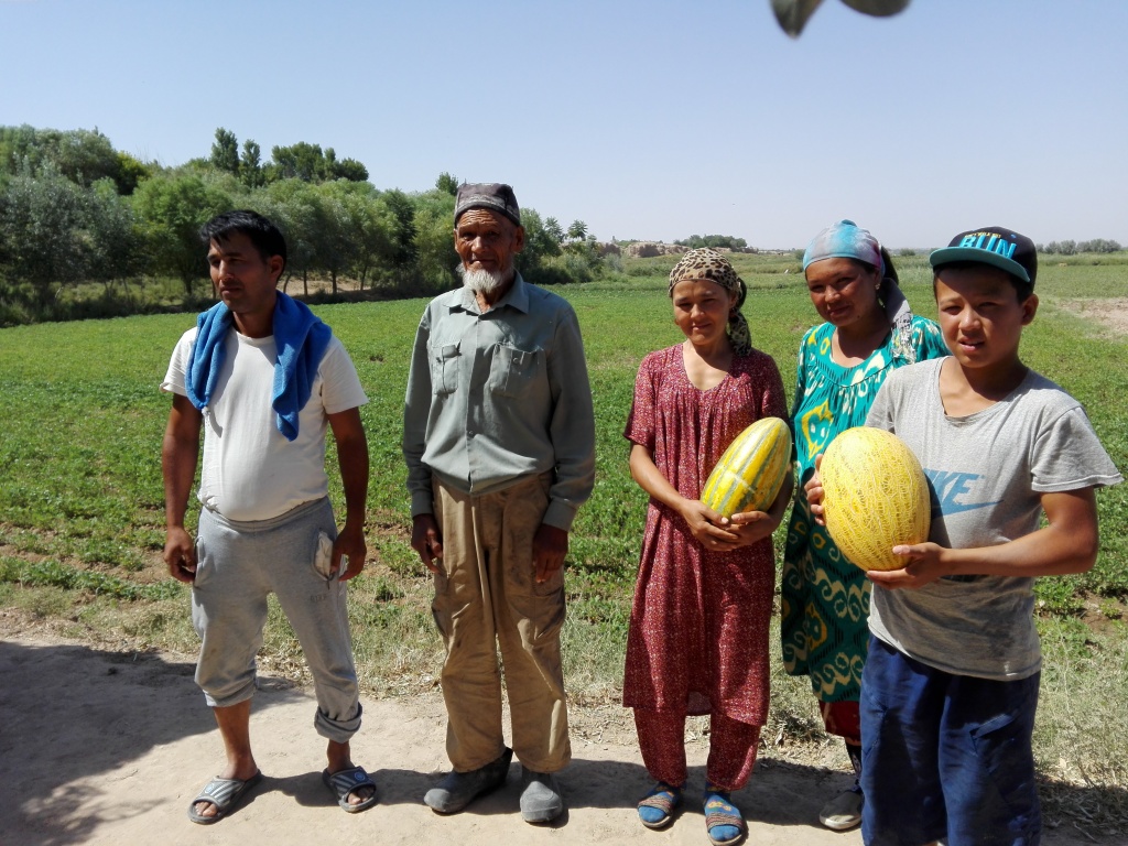
[[[1128,244],[1128,2],[0,0],[0,124],[176,165],[217,126],[447,170],[601,239],[892,247],[1003,224]]]

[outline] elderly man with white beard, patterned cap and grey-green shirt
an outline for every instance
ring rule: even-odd
[[[559,633],[569,530],[594,481],[594,417],[575,311],[513,266],[525,246],[509,185],[462,185],[455,248],[464,287],[428,306],[412,353],[404,457],[412,547],[434,573],[453,765],[424,802],[462,810],[505,782],[521,816],[564,808],[571,759]],[[513,749],[502,734],[501,671]]]

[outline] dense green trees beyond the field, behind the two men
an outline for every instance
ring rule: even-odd
[[[263,160],[219,127],[210,155],[162,167],[115,150],[95,130],[0,126],[0,324],[56,316],[71,285],[141,285],[171,277],[184,303],[211,297],[200,227],[230,209],[274,220],[290,250],[284,284],[309,293],[327,279],[351,288],[423,296],[458,284],[451,237],[459,180],[440,174],[429,191],[378,190],[368,169],[333,148],[273,147]],[[522,209],[518,267],[540,284],[583,282],[601,270],[582,221]],[[298,287],[300,285],[300,290]],[[5,315],[8,316],[5,319]]]

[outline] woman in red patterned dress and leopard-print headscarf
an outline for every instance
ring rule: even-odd
[[[747,826],[729,794],[747,783],[767,717],[772,532],[793,479],[767,512],[731,520],[699,497],[733,439],[761,417],[786,418],[787,404],[775,362],[751,346],[744,283],[728,259],[687,253],[670,273],[670,298],[686,340],[643,359],[624,433],[631,475],[651,499],[623,704],[658,782],[638,804],[647,828],[667,825],[681,802],[686,716],[710,715],[705,821],[713,844],[732,844]]]

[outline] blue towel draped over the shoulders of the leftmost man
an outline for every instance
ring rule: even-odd
[[[188,400],[203,411],[211,402],[223,365],[223,341],[231,328],[231,311],[217,302],[196,318],[200,332],[188,356]],[[274,303],[274,385],[271,407],[279,431],[288,441],[298,437],[298,412],[309,402],[317,368],[333,337],[331,329],[305,302],[279,291]]]

